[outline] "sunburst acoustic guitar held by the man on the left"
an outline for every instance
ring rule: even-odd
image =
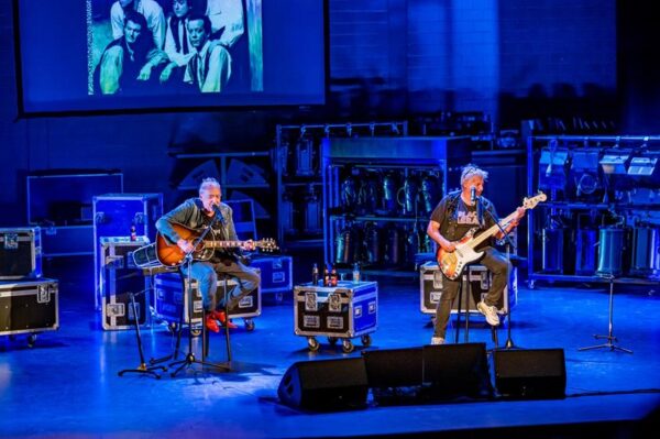
[[[193,259],[196,261],[208,261],[213,255],[216,249],[238,249],[243,246],[246,241],[216,241],[212,239],[212,235],[208,239],[201,240],[199,243],[199,237],[201,235],[200,231],[187,228],[183,224],[172,224],[172,228],[177,232],[179,237],[185,239],[188,242],[191,242],[193,245],[196,245],[195,251],[193,252]],[[273,239],[263,239],[258,241],[254,241],[255,249],[261,249],[263,251],[270,252],[277,250],[277,244]],[[166,266],[175,266],[180,265],[186,259],[187,254],[184,252],[176,242],[170,242],[167,238],[165,238],[161,232],[156,233],[156,257],[162,265]]]

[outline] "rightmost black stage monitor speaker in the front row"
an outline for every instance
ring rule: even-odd
[[[495,351],[495,387],[512,398],[563,398],[566,366],[563,349]]]

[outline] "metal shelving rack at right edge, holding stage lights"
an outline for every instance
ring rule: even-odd
[[[542,135],[542,136],[530,136],[527,140],[527,191],[534,194],[537,191],[537,182],[539,177],[539,153],[540,151],[535,147],[538,143],[559,142],[562,145],[574,145],[573,150],[576,151],[579,147],[592,147],[602,149],[607,152],[615,152],[617,149],[636,150],[644,152],[651,152],[652,154],[660,156],[660,136],[657,135]],[[578,145],[578,146],[575,146]],[[644,145],[644,147],[640,147]],[[552,160],[551,160],[552,161]],[[660,166],[660,160],[656,166]],[[651,193],[660,193],[660,186],[648,189]],[[536,281],[546,282],[571,282],[571,283],[609,283],[608,276],[594,275],[579,275],[579,274],[558,274],[558,273],[543,273],[539,268],[539,263],[536,260],[537,252],[537,219],[539,215],[556,215],[562,211],[569,212],[597,212],[604,215],[606,212],[622,212],[630,215],[632,212],[653,212],[660,218],[660,201],[652,202],[617,202],[601,200],[600,202],[582,202],[582,201],[560,201],[553,200],[550,196],[548,202],[540,204],[537,209],[529,210],[528,216],[528,228],[527,228],[527,253],[528,253],[528,266],[527,266],[527,281],[530,288],[535,287]],[[659,199],[659,197],[656,197]],[[639,285],[657,285],[658,278],[648,277],[634,277],[629,275],[623,275],[615,277],[612,282],[617,284],[639,284]]]

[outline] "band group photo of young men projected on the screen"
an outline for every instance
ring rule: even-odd
[[[262,0],[87,0],[88,95],[264,90]]]

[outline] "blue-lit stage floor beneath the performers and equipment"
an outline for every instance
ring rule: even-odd
[[[307,281],[307,279],[304,279]],[[378,323],[370,350],[420,347],[430,341],[430,317],[420,312],[419,279],[378,282]],[[0,437],[642,437],[642,425],[657,425],[660,406],[660,300],[657,286],[616,285],[616,344],[607,334],[608,286],[519,285],[513,308],[512,340],[519,348],[561,348],[565,354],[566,397],[562,399],[444,400],[437,404],[376,406],[370,393],[364,409],[309,413],[279,404],[277,387],[298,361],[360,356],[324,339],[310,352],[294,334],[293,295],[280,301],[264,296],[262,315],[248,331],[239,319],[231,331],[232,371],[198,364],[175,377],[118,376],[139,366],[133,330],[103,331],[91,293],[63,278],[57,331],[44,332],[29,348],[24,336],[0,339]],[[472,317],[471,342],[492,349],[483,318]],[[175,337],[165,325],[143,327],[147,359],[172,353]],[[453,342],[453,328],[448,336]],[[507,327],[498,332],[507,340]],[[463,332],[460,341],[463,342]],[[184,338],[182,354],[187,351]],[[197,358],[200,343],[195,339]],[[224,360],[222,333],[212,333],[210,361]],[[492,356],[490,355],[492,361]],[[656,410],[656,416],[650,416]]]

